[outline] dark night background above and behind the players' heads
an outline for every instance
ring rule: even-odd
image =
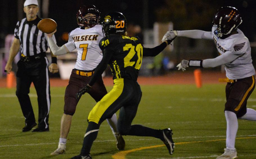
[[[18,0],[0,0],[1,10],[3,13],[1,14],[1,25],[0,25],[0,47],[4,46],[3,39],[7,34],[13,34],[15,24],[18,20],[17,18],[17,1]],[[19,0],[21,1],[21,0]],[[41,0],[42,3],[44,0]],[[242,15],[242,24],[239,26],[244,34],[249,38],[250,41],[256,41],[256,2],[254,0],[222,0],[222,1],[205,1],[205,0],[107,0],[107,1],[99,1],[99,0],[50,0],[49,6],[49,16],[47,18],[54,19],[57,24],[57,33],[56,37],[61,36],[63,32],[70,32],[76,27],[78,27],[76,22],[76,13],[80,6],[83,4],[94,4],[101,12],[101,17],[103,18],[105,14],[111,11],[119,11],[122,12],[127,18],[128,24],[133,23],[140,25],[142,29],[150,29],[153,27],[154,22],[168,19],[172,20],[171,17],[164,17],[165,14],[161,15],[159,10],[166,10],[166,12],[172,14],[172,12],[176,9],[176,15],[182,15],[182,13],[177,13],[177,8],[175,7],[176,3],[182,3],[185,6],[189,15],[193,15],[193,11],[201,12],[206,11],[207,8],[202,8],[207,3],[208,6],[211,6],[211,10],[217,10],[221,6],[234,6],[236,7],[241,15]],[[199,5],[200,3],[201,6]],[[146,7],[145,4],[148,4]],[[196,10],[190,10],[191,8],[197,8]],[[179,9],[179,8],[178,8]],[[178,10],[179,11],[179,10]],[[168,15],[168,14],[167,14]],[[211,20],[212,20],[212,12],[209,10],[209,15],[206,17],[199,17],[198,19],[192,20],[193,25],[187,23],[186,29],[203,29],[205,31],[210,31],[211,29]],[[24,14],[25,17],[25,14]],[[43,17],[46,18],[46,17]],[[200,25],[202,21],[206,21],[206,24]],[[176,19],[176,24],[183,22],[186,25],[186,20],[184,18]],[[185,21],[185,22],[184,22]],[[180,24],[183,24],[180,23]],[[184,29],[179,25],[175,25],[174,29],[182,30]],[[198,26],[198,27],[197,27]],[[58,40],[58,44],[64,44],[65,41]]]

